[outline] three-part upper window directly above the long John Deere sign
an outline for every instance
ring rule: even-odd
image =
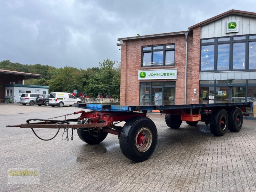
[[[142,47],[141,67],[174,65],[174,58],[174,44]]]

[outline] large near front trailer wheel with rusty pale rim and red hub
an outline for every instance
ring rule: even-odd
[[[135,117],[128,120],[119,137],[122,153],[135,162],[147,160],[154,152],[156,143],[156,125],[148,117]]]

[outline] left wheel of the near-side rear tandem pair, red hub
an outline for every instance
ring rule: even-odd
[[[228,114],[225,109],[213,111],[210,120],[210,130],[213,135],[222,136],[228,129]]]

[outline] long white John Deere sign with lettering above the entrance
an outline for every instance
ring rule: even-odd
[[[177,69],[139,70],[138,79],[177,79]]]

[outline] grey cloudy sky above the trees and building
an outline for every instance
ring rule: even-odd
[[[187,30],[255,0],[0,0],[0,61],[86,69],[120,61],[117,38]]]

